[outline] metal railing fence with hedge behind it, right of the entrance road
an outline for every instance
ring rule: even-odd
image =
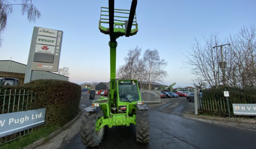
[[[242,90],[227,89],[229,92],[228,102],[230,114],[233,114],[232,104],[253,104],[256,103],[255,94]],[[210,114],[228,115],[228,106],[224,89],[203,90],[202,98],[198,100],[198,112]]]

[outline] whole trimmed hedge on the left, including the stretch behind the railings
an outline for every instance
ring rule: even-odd
[[[81,99],[81,86],[72,82],[62,81],[62,80],[34,80],[32,82],[26,83],[21,86],[6,86],[0,85],[1,95],[4,94],[6,89],[6,99],[4,104],[4,113],[8,110],[8,100],[11,89],[11,94],[14,94],[16,89],[16,94],[21,90],[21,94],[25,90],[25,94],[36,94],[36,99],[32,101],[30,106],[30,101],[28,101],[29,107],[23,109],[33,110],[46,108],[45,124],[47,126],[63,126],[64,124],[71,121],[79,112],[79,103]],[[25,99],[27,99],[25,95]],[[33,96],[34,97],[34,96]],[[1,96],[0,110],[2,114],[3,100],[4,97]],[[7,99],[8,98],[8,99]],[[23,95],[21,95],[23,98]],[[14,96],[10,98],[10,112],[17,112],[18,105],[18,95],[16,96],[15,104],[13,105]],[[21,105],[27,105],[27,100],[19,102],[19,111],[21,111]],[[12,107],[14,106],[14,111]]]

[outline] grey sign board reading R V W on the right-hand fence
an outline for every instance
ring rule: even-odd
[[[234,115],[256,115],[256,104],[233,104]]]

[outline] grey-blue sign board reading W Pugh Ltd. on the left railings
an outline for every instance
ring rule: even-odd
[[[0,114],[0,137],[27,130],[45,122],[45,108]]]

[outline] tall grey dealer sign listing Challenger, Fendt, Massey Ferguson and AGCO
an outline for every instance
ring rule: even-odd
[[[33,70],[58,72],[63,31],[34,27],[24,83],[30,82]]]

